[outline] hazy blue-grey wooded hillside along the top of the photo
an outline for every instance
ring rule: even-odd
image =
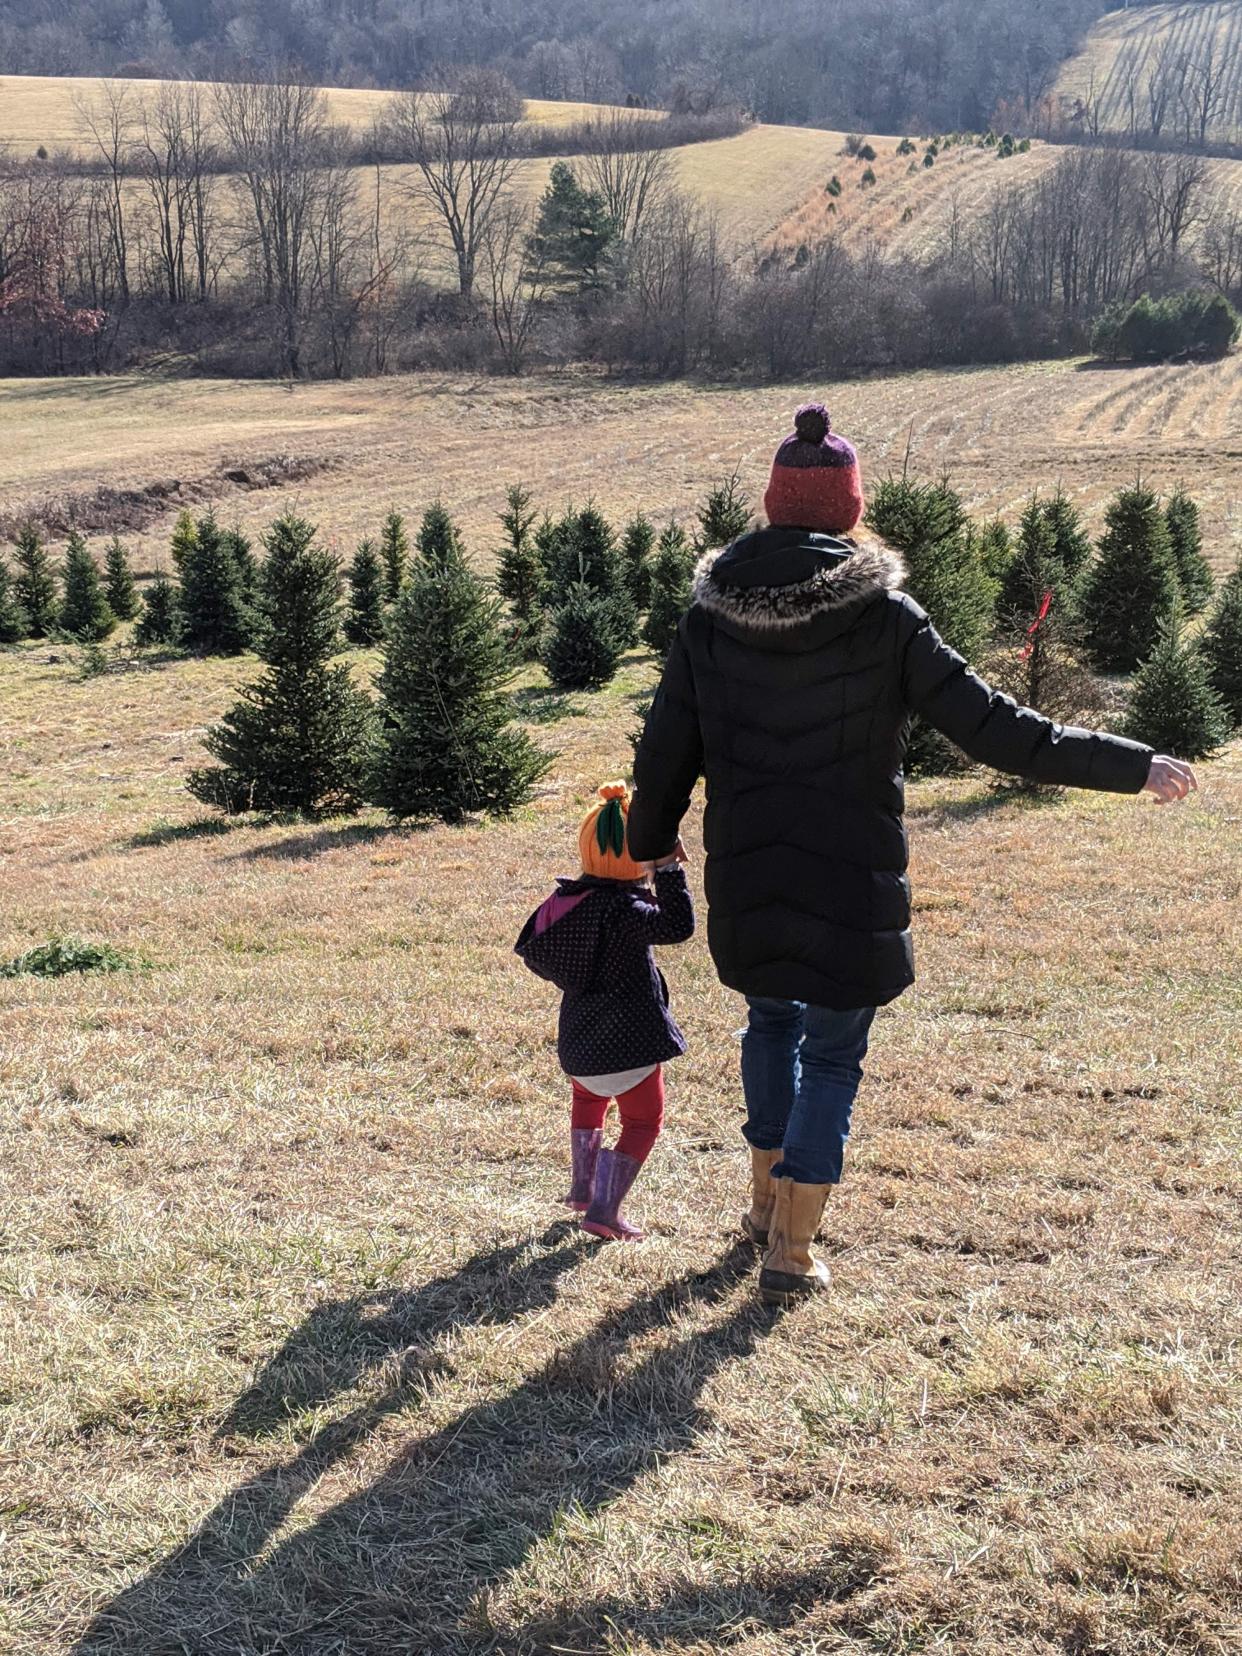
[[[296,61],[318,81],[412,86],[485,63],[535,98],[669,109],[737,106],[828,128],[989,126],[1038,106],[1101,0],[0,0],[13,73],[238,78]]]

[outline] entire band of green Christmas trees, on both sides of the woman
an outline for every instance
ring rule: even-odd
[[[520,664],[538,662],[550,691],[565,692],[606,684],[636,644],[662,657],[696,560],[750,523],[737,477],[709,492],[689,530],[657,530],[641,512],[614,527],[591,503],[540,512],[513,485],[492,580],[434,503],[412,535],[389,512],[343,581],[335,553],[296,515],[255,550],[210,513],[182,513],[176,578],[157,576],[141,608],[118,542],[103,575],[78,537],[58,570],[26,530],[15,566],[0,560],[0,643],[68,638],[89,671],[106,671],[101,641],[124,613],[137,614],[139,647],[250,649],[263,671],[209,730],[210,763],[187,778],[195,798],[227,813],[373,803],[397,818],[457,821],[512,811],[546,770],[518,717]],[[946,641],[1020,702],[1061,722],[1108,724],[1124,704],[1129,735],[1187,758],[1242,729],[1242,565],[1216,591],[1184,490],[1166,500],[1143,482],[1119,490],[1093,545],[1060,490],[1032,495],[1010,533],[972,522],[947,480],[901,477],[876,489],[868,528],[903,551],[907,590]],[[348,647],[378,651],[369,687]],[[538,699],[540,687],[522,694]],[[545,697],[532,710],[543,720],[560,709]],[[909,770],[960,763],[916,724]]]

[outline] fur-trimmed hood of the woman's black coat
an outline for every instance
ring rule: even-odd
[[[747,631],[778,631],[893,591],[906,566],[889,546],[805,530],[760,528],[694,571],[694,603]]]

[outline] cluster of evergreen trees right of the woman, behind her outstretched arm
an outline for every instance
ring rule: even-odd
[[[1060,489],[1032,497],[1010,535],[974,523],[947,480],[889,479],[868,523],[904,553],[907,590],[946,641],[1018,700],[1076,720],[1098,710],[1093,674],[1136,674],[1126,732],[1138,740],[1202,758],[1242,727],[1242,568],[1192,639],[1187,619],[1214,581],[1186,490],[1164,502],[1141,479],[1118,490],[1098,546]],[[916,725],[909,762],[939,770],[957,755]]]

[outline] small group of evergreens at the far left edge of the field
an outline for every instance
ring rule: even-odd
[[[0,558],[0,644],[26,638],[98,644],[116,631],[118,621],[137,614],[129,553],[116,535],[104,553],[103,578],[76,530],[58,568],[33,523],[18,533],[13,565],[10,571]]]

